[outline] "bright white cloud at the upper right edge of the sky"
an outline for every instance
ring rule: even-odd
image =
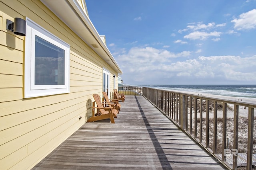
[[[238,19],[234,19],[234,28],[237,30],[255,29],[256,28],[256,9],[240,14]]]

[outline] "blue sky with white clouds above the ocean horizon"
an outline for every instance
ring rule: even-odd
[[[126,84],[256,84],[256,0],[86,0]]]

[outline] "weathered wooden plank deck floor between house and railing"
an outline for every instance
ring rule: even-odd
[[[115,124],[85,123],[33,169],[223,169],[143,96],[121,105]]]

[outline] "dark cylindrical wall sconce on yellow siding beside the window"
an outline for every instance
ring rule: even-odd
[[[14,18],[14,22],[6,20],[6,29],[16,35],[26,35],[26,21],[21,18]]]

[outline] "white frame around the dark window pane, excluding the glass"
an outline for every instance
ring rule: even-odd
[[[26,18],[24,98],[64,94],[70,92],[70,45],[62,41],[34,21]],[[65,52],[64,85],[35,85],[35,37],[36,35]]]

